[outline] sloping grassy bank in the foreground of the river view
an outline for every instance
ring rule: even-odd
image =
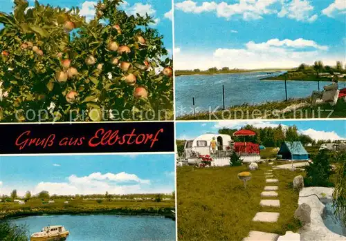
[[[307,118],[339,118],[346,117],[346,103],[338,99],[335,106],[328,103],[316,107],[310,106],[310,97],[289,99],[281,102],[266,102],[264,104],[231,106],[226,110],[208,111],[193,115],[176,117],[179,120],[189,119],[307,119]]]

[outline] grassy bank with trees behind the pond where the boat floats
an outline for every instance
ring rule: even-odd
[[[42,200],[28,200],[20,205],[15,202],[0,204],[0,218],[17,218],[28,215],[58,214],[91,214],[112,213],[121,215],[169,215],[174,209],[174,201],[170,202],[131,202],[103,200],[55,200],[53,204],[42,204]]]

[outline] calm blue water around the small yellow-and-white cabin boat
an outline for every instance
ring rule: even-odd
[[[175,240],[175,222],[152,216],[48,215],[11,220],[26,224],[30,235],[44,226],[63,225],[70,231],[67,241]]]

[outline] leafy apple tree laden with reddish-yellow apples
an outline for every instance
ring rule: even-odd
[[[89,22],[78,8],[38,1],[27,9],[28,1],[15,0],[13,14],[0,12],[0,121],[28,121],[28,110],[44,110],[33,122],[121,113],[120,120],[172,119],[172,59],[163,60],[163,37],[148,27],[152,17],[127,16],[120,2],[102,0]]]

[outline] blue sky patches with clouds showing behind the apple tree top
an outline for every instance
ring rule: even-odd
[[[60,6],[62,8],[69,8],[73,6],[78,6],[81,10],[81,15],[86,16],[87,19],[90,19],[95,15],[95,10],[93,5],[98,1],[85,1],[85,0],[41,0],[39,3],[50,4],[51,6]],[[1,12],[12,12],[13,1],[12,0],[0,0]],[[34,1],[29,0],[29,5],[33,6]],[[127,15],[145,15],[147,12],[148,15],[154,17],[156,23],[151,26],[156,28],[161,35],[163,35],[164,46],[167,50],[172,51],[172,17],[170,11],[172,10],[172,1],[171,0],[127,0],[123,1],[120,6],[122,10],[127,12]]]

